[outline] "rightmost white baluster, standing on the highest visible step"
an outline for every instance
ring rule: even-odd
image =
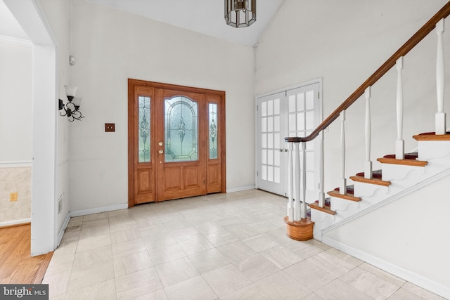
[[[444,112],[444,43],[442,35],[444,33],[444,19],[441,19],[436,24],[437,33],[437,58],[436,58],[436,89],[437,89],[437,113],[436,119],[436,134],[445,134],[446,122]]]

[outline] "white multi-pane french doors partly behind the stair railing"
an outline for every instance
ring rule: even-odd
[[[257,187],[287,196],[288,143],[286,136],[308,136],[321,122],[319,82],[257,97]],[[319,147],[307,143],[307,202],[317,197],[321,178]]]

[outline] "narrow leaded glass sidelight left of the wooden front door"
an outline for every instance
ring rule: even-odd
[[[150,97],[139,96],[139,162],[150,162]]]

